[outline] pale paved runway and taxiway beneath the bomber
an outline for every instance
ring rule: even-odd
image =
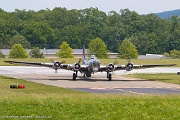
[[[58,70],[45,67],[30,66],[0,66],[0,75],[21,78],[27,81],[53,85],[78,91],[91,93],[115,94],[180,94],[180,85],[157,81],[141,80],[124,77],[123,74],[133,73],[177,73],[180,68],[150,68],[113,72],[112,81],[106,78],[106,72],[93,74],[91,78],[84,78],[78,74],[77,80],[72,80],[72,71]]]

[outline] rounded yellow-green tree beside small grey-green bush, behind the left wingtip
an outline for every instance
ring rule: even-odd
[[[21,44],[14,44],[9,53],[10,58],[27,58],[28,54]]]

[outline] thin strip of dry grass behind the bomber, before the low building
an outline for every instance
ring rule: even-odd
[[[10,65],[8,63],[4,63],[4,60],[15,60],[15,61],[28,61],[28,62],[51,62],[48,58],[43,59],[0,59],[0,66],[2,65]],[[75,63],[78,62],[78,58],[55,58],[54,60],[63,61],[66,63]],[[126,59],[100,59],[102,64],[109,64],[118,61],[118,64],[127,64]],[[161,60],[137,60],[132,59],[131,62],[134,64],[177,64],[176,67],[180,67],[180,59],[161,59]]]

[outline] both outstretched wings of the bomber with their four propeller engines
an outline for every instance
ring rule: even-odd
[[[73,71],[87,71],[87,67],[82,65],[80,66],[79,63],[75,64],[62,64],[63,62],[53,61],[52,63],[38,63],[38,62],[21,62],[21,61],[4,61],[10,64],[22,64],[22,65],[29,65],[29,66],[44,66],[53,69],[66,69],[66,70],[73,70]],[[145,65],[134,65],[133,63],[129,62],[126,65],[101,65],[99,68],[99,72],[103,71],[116,71],[116,70],[127,70],[131,71],[132,69],[143,69],[143,68],[153,68],[153,67],[169,67],[175,66],[176,64],[145,64]]]

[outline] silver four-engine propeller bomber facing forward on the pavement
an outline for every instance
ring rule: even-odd
[[[108,65],[101,65],[100,61],[96,58],[95,55],[91,55],[89,60],[85,59],[85,48],[83,47],[82,54],[82,65],[80,65],[81,59],[77,63],[74,64],[63,64],[65,61],[58,62],[53,61],[52,63],[36,63],[36,62],[20,62],[20,61],[4,61],[11,64],[24,64],[24,65],[32,65],[32,66],[44,66],[55,69],[66,69],[72,70],[73,80],[76,80],[77,73],[83,73],[84,77],[91,77],[92,74],[96,72],[107,72],[107,78],[109,81],[112,79],[112,72],[116,70],[126,70],[131,71],[133,69],[139,68],[151,68],[151,67],[163,67],[163,66],[174,66],[176,64],[151,64],[151,65],[134,65],[132,62],[128,62],[126,65],[116,65],[116,63],[110,63]]]

